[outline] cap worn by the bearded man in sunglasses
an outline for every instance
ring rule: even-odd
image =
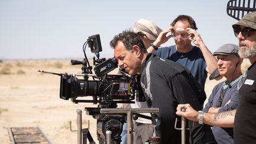
[[[249,27],[256,30],[256,11],[246,14],[241,20],[238,21],[238,23],[233,24],[232,27],[235,27],[236,25],[242,25],[244,27]]]

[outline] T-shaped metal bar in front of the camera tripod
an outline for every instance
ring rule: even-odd
[[[159,108],[101,108],[101,114],[126,114],[127,115],[127,143],[133,143],[132,114],[133,113],[158,113]]]

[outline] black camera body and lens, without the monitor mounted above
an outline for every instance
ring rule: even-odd
[[[76,103],[76,98],[92,96],[88,103],[129,103],[135,99],[135,82],[123,75],[105,75],[96,80],[78,79],[76,76],[60,76],[60,98]],[[117,101],[118,100],[118,101]],[[86,101],[84,101],[86,102]]]

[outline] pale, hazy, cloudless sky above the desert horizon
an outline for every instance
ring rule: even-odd
[[[228,0],[0,0],[0,59],[84,58],[82,46],[100,34],[100,58],[113,57],[109,42],[146,18],[162,30],[178,15],[190,15],[211,52],[238,44],[226,12]],[[170,39],[162,46],[171,46]],[[85,50],[91,58],[89,48]]]

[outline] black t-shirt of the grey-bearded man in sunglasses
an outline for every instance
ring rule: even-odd
[[[256,143],[256,62],[247,72],[240,89],[238,109],[235,114],[234,142]]]

